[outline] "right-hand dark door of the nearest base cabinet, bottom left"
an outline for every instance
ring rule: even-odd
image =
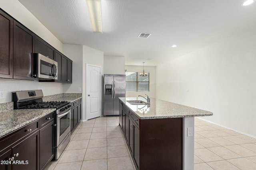
[[[24,164],[13,165],[13,170],[38,170],[39,165],[39,131],[18,143],[12,148],[14,160],[24,161]],[[27,162],[26,162],[27,161]],[[27,163],[27,164],[26,164]]]

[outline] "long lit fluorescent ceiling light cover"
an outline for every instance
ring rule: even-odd
[[[102,33],[101,7],[100,0],[86,0],[92,31],[94,33]]]

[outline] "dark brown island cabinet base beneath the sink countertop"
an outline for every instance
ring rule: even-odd
[[[182,170],[182,118],[140,119],[120,104],[120,126],[136,169]]]

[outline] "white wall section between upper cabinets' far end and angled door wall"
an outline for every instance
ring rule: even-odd
[[[82,74],[83,74],[83,46],[63,44],[63,54],[66,55],[72,63],[72,84],[63,84],[63,93],[82,93]],[[81,91],[78,91],[81,88]]]

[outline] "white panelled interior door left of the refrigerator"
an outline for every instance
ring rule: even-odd
[[[101,115],[101,66],[86,64],[86,119]]]

